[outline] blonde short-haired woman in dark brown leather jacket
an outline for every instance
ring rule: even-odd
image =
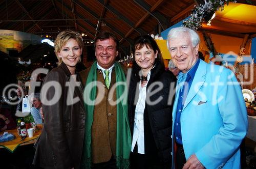
[[[82,38],[77,32],[61,32],[55,40],[58,67],[48,73],[41,91],[44,129],[37,140],[33,161],[40,167],[79,168],[85,112],[83,88],[74,84],[81,84],[76,65],[81,60],[82,48]],[[54,96],[59,99],[55,101]]]

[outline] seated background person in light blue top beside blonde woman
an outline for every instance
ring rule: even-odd
[[[40,115],[40,108],[42,107],[42,103],[39,93],[35,93],[32,97],[32,104],[33,107],[31,107],[31,115],[33,116],[36,124],[42,124],[42,117]]]

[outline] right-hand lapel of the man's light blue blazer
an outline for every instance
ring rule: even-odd
[[[204,84],[205,81],[205,75],[206,75],[206,69],[207,64],[203,61],[200,61],[195,77],[191,83],[191,87],[188,91],[187,98],[185,101],[185,104],[183,106],[183,110],[186,108],[186,106],[191,102],[191,100],[196,96],[198,91],[201,89],[201,87]]]

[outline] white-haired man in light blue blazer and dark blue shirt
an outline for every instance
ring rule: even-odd
[[[248,122],[236,77],[198,59],[199,36],[193,30],[170,30],[167,47],[181,70],[173,108],[173,168],[241,168]]]

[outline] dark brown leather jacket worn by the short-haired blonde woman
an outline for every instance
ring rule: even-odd
[[[80,76],[76,75],[77,81],[81,81]],[[72,77],[68,67],[61,63],[48,73],[42,86],[41,101],[45,121],[35,145],[33,163],[44,168],[79,168],[80,165],[85,122],[83,88],[81,83],[77,87],[69,83],[70,79]],[[49,81],[58,82],[60,86]],[[44,92],[48,82],[51,87]],[[46,105],[44,96],[47,100],[52,100],[54,96],[60,98],[53,105]]]

